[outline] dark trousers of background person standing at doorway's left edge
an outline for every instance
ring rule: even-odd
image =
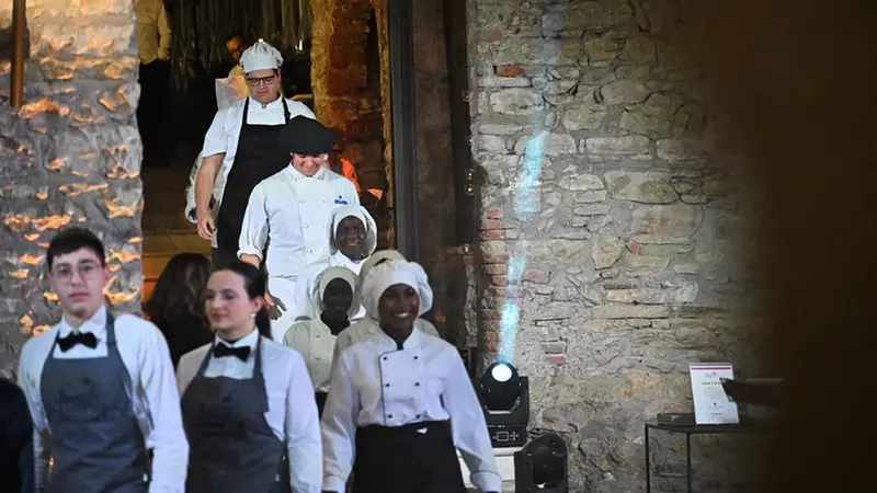
[[[140,102],[137,105],[137,126],[144,144],[144,167],[170,165],[171,142],[167,128],[168,94],[170,93],[169,61],[140,64]]]

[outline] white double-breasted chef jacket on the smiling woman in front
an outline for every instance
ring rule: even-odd
[[[350,347],[332,372],[322,414],[322,489],[344,491],[357,427],[446,420],[472,484],[501,491],[485,414],[454,346],[415,329],[401,351],[383,331]]]

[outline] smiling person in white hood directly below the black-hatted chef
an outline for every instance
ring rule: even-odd
[[[328,267],[345,267],[360,274],[363,264],[375,252],[377,246],[377,225],[363,206],[346,205],[339,207],[332,214],[329,223],[329,260],[326,263],[312,265],[303,274],[301,282],[296,284],[295,306],[298,312],[295,320],[311,320],[320,317],[321,309],[314,301],[312,290],[317,276]],[[351,321],[365,317],[365,308],[353,307]]]

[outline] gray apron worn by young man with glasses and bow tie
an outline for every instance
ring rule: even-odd
[[[47,493],[145,493],[149,469],[132,381],[106,312],[106,356],[55,358],[43,367],[41,394],[52,431]]]

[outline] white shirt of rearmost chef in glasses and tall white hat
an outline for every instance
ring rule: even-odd
[[[204,136],[204,147],[201,150],[202,157],[207,158],[223,152],[226,154],[225,158],[223,158],[223,168],[219,170],[214,186],[214,210],[217,211],[223,202],[226,179],[231,171],[231,165],[235,163],[235,156],[237,156],[238,152],[238,140],[240,140],[244,101],[247,100],[240,100],[235,103],[235,105],[216,112],[210,128],[207,129],[207,134]],[[289,119],[296,116],[317,118],[314,112],[304,103],[287,99],[286,107],[289,110]],[[280,99],[262,107],[262,103],[250,98],[250,106],[247,110],[248,125],[281,125],[283,123],[283,103]],[[216,183],[221,183],[221,186],[216,185]],[[192,194],[194,202],[194,187]],[[194,204],[192,207],[194,207]],[[186,213],[186,216],[189,216],[189,214],[190,213]]]

